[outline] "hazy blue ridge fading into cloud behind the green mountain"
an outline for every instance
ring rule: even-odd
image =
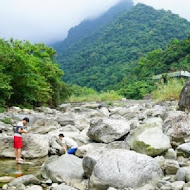
[[[60,54],[71,44],[78,42],[85,38],[92,32],[97,31],[101,26],[109,25],[113,19],[122,11],[133,6],[132,0],[121,0],[120,3],[110,8],[106,13],[93,20],[84,20],[78,26],[71,28],[68,32],[67,38],[63,42],[52,44],[52,47]]]

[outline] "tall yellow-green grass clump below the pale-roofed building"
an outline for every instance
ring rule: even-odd
[[[167,84],[158,83],[157,89],[152,92],[152,96],[158,101],[179,100],[184,84],[185,80],[183,79],[170,79]]]

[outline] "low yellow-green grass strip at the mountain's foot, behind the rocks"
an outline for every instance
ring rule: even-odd
[[[109,92],[103,92],[103,93],[96,93],[96,94],[87,94],[87,95],[81,95],[76,96],[73,95],[70,97],[69,102],[104,102],[104,101],[118,101],[122,98],[117,92],[115,91],[109,91]]]

